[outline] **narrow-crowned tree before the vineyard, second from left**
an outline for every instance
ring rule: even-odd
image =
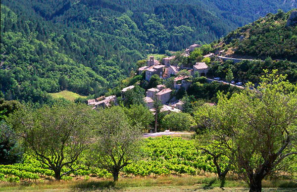
[[[122,168],[139,158],[141,127],[132,126],[119,106],[101,109],[97,119],[89,163],[106,169],[115,182]]]

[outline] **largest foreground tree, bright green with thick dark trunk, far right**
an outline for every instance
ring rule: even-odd
[[[261,77],[260,86],[230,99],[220,94],[216,107],[201,109],[200,124],[247,182],[261,192],[262,180],[285,158],[297,154],[297,86],[276,71]]]

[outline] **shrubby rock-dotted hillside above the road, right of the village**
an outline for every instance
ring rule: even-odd
[[[235,58],[262,58],[297,61],[297,25],[287,24],[291,13],[279,10],[229,33],[215,48]],[[294,13],[295,14],[295,13]],[[296,20],[296,18],[295,18]]]

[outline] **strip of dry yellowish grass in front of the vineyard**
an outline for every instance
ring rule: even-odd
[[[295,188],[294,188],[295,187]],[[297,184],[290,181],[264,181],[263,192],[297,192]],[[149,178],[120,178],[111,180],[76,178],[70,182],[1,183],[2,192],[248,192],[247,184],[227,179],[224,188],[215,177],[163,176]]]

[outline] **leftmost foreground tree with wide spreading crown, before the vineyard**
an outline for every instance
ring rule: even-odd
[[[79,169],[72,166],[89,148],[94,110],[84,104],[24,107],[11,115],[8,122],[23,139],[27,153],[54,172],[56,180]],[[63,167],[70,170],[62,173]]]

